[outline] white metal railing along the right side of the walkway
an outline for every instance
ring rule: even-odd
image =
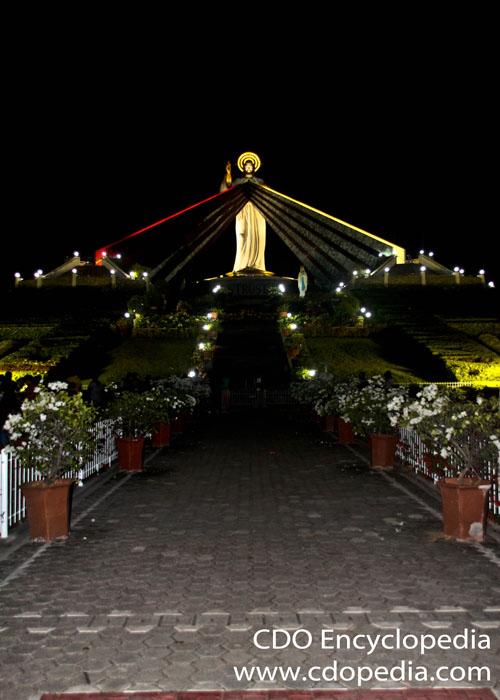
[[[400,428],[400,440],[396,448],[396,456],[399,460],[413,468],[415,474],[421,474],[425,478],[436,482],[439,475],[432,465],[432,456],[429,455],[429,448],[424,444],[420,436],[411,428]],[[439,457],[435,456],[437,459]],[[448,458],[447,458],[448,459]],[[453,455],[448,459],[454,463]],[[491,489],[488,497],[489,513],[496,519],[500,519],[500,488],[498,475],[500,471],[500,455],[497,462],[491,461],[484,464],[483,473],[486,479],[491,481]],[[444,467],[444,476],[451,476],[452,472]]]

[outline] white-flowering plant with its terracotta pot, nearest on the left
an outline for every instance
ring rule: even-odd
[[[21,486],[33,540],[68,537],[75,480],[63,477],[79,469],[94,448],[96,409],[67,389],[64,382],[38,386],[4,426],[11,440],[6,449],[39,477]]]

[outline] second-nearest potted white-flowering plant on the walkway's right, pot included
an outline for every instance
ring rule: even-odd
[[[370,440],[372,468],[392,469],[399,440],[398,415],[407,395],[406,389],[388,385],[375,375],[359,385],[351,382],[339,395],[342,419],[354,431]]]

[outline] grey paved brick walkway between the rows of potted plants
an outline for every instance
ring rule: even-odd
[[[443,539],[439,503],[370,471],[362,446],[242,412],[148,460],[78,499],[67,542],[0,563],[2,700],[358,677],[499,692],[500,543]],[[475,666],[489,679],[459,678]]]

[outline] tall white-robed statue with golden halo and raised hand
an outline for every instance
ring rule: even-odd
[[[233,181],[231,163],[228,161],[221,191],[245,182],[263,184],[264,181],[261,178],[255,177],[256,171],[260,168],[260,158],[256,153],[242,153],[238,158],[238,168],[242,171],[243,177]],[[247,202],[236,215],[236,257],[233,274],[265,274],[265,248],[266,220],[252,202]]]

